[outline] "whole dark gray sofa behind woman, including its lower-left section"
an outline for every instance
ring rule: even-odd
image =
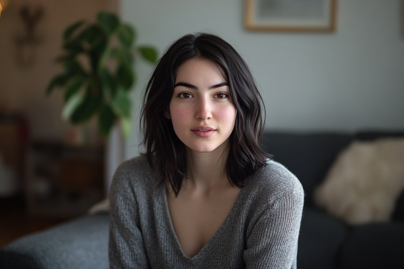
[[[317,209],[315,186],[337,154],[354,139],[404,136],[403,132],[266,132],[263,148],[295,173],[306,193],[299,237],[299,269],[403,268],[404,196],[391,223],[350,227]],[[108,268],[108,215],[89,215],[25,236],[0,250],[0,269]]]

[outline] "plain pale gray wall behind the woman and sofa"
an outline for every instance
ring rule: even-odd
[[[334,33],[249,32],[238,0],[122,0],[138,44],[162,53],[186,33],[209,31],[230,42],[261,89],[266,129],[354,131],[404,128],[404,38],[400,0],[339,0]],[[133,93],[138,124],[141,91],[151,68],[137,63]],[[138,152],[138,131],[126,158]]]

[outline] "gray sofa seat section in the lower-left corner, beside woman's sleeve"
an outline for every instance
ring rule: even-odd
[[[108,214],[82,217],[4,246],[0,268],[107,269],[108,237]]]

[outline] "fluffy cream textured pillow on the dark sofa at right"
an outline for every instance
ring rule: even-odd
[[[318,206],[357,225],[388,221],[404,189],[404,138],[353,142],[314,192]]]

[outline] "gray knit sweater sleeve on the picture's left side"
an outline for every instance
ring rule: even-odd
[[[109,268],[149,268],[139,204],[127,169],[118,168],[109,196]]]

